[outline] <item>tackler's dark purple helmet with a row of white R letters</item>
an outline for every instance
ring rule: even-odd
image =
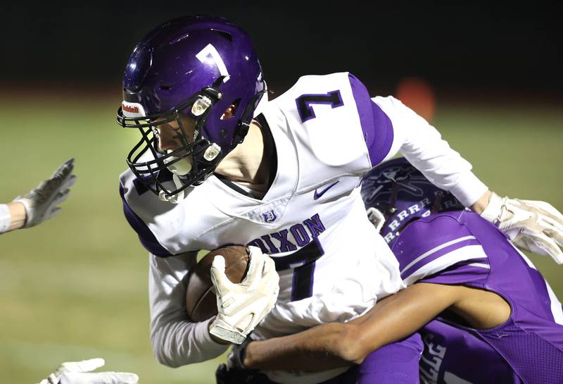
[[[433,213],[464,209],[453,194],[436,187],[403,157],[381,163],[364,175],[362,199],[366,209],[383,213],[380,232],[389,247],[408,223]]]

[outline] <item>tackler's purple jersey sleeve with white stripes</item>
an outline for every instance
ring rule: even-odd
[[[469,273],[464,280],[481,279],[483,273],[488,273],[488,259],[479,240],[467,225],[446,213],[411,223],[400,234],[393,253],[407,285],[437,273],[445,276],[452,270]]]

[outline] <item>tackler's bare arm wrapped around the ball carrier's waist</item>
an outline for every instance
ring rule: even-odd
[[[251,342],[243,364],[252,369],[297,371],[360,364],[369,353],[407,337],[446,309],[477,329],[498,326],[510,316],[510,305],[493,292],[416,283],[349,323],[327,323],[295,335]]]

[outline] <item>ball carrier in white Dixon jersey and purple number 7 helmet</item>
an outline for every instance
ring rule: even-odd
[[[221,18],[159,25],[127,62],[118,123],[141,140],[120,194],[151,254],[151,340],[167,366],[213,359],[253,328],[260,339],[350,321],[400,290],[360,197],[362,175],[399,151],[479,213],[495,196],[426,120],[393,97],[371,98],[350,73],[303,76],[260,102],[265,92],[250,38]],[[260,273],[218,290],[218,316],[194,323],[184,297],[196,252],[226,244],[247,244]],[[224,287],[220,259],[212,273]],[[268,375],[319,383],[342,372]]]

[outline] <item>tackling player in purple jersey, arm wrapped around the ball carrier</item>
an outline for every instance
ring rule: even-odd
[[[377,227],[409,287],[348,323],[237,346],[219,384],[271,384],[257,368],[352,363],[348,383],[418,383],[419,374],[429,384],[563,382],[561,302],[498,228],[402,158],[369,171],[362,197],[384,217]],[[563,215],[546,208],[540,221],[561,233]],[[422,340],[410,335],[410,348],[386,345],[415,330]]]

